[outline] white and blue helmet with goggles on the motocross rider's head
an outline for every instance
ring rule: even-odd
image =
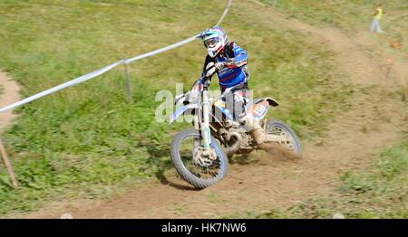
[[[214,58],[228,43],[227,34],[219,26],[211,27],[200,34],[209,56]]]

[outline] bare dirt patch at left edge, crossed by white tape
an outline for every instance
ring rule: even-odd
[[[3,90],[0,93],[0,108],[20,100],[20,94],[18,93],[20,88],[17,82],[8,77],[3,71],[0,71],[0,85]],[[16,114],[13,113],[13,110],[0,113],[0,134],[11,124],[15,117]]]

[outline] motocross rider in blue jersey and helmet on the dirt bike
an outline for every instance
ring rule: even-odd
[[[204,78],[203,75],[206,74],[209,62],[213,62],[219,77],[221,92],[233,88],[226,95],[227,108],[232,111],[233,119],[249,129],[249,133],[257,144],[264,143],[266,139],[265,132],[252,114],[247,114],[246,111],[249,92],[247,52],[238,43],[228,42],[227,34],[219,26],[207,29],[199,37],[208,51],[201,78]],[[211,78],[208,78],[208,80],[210,81]]]

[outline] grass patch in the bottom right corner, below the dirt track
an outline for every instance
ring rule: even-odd
[[[408,139],[384,151],[366,171],[345,172],[337,194],[311,198],[287,210],[248,212],[246,218],[408,218]],[[242,215],[240,216],[242,217]]]

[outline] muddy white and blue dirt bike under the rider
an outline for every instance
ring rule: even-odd
[[[226,109],[225,97],[234,87],[225,90],[219,99],[209,97],[208,78],[215,73],[209,63],[203,77],[191,90],[175,99],[180,106],[170,119],[170,124],[181,115],[192,117],[194,128],[180,131],[171,143],[171,161],[181,177],[196,188],[214,185],[228,173],[228,156],[246,154],[259,149],[248,128],[231,116]],[[266,142],[276,143],[300,154],[299,138],[287,124],[265,119],[270,107],[277,107],[276,100],[264,98],[248,105],[248,113],[266,133]],[[219,116],[221,115],[221,116]]]

